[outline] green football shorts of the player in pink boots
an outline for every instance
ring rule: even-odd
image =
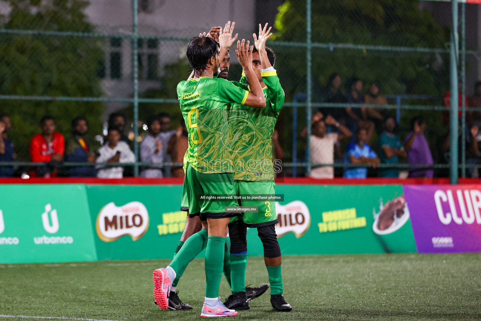
[[[187,164],[182,196],[184,194],[187,195],[187,209],[190,218],[199,216],[204,221],[207,218],[230,218],[241,215],[241,213],[225,212],[225,206],[238,206],[235,200],[200,199],[200,195],[235,194],[233,173],[204,174]],[[185,206],[183,207],[185,208]]]

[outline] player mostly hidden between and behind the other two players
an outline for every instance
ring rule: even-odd
[[[232,46],[234,41],[237,39],[237,34],[232,37],[233,31],[234,31],[234,26],[235,23],[232,22],[232,26],[230,26],[230,21],[226,24],[226,26],[223,29],[223,32],[220,31],[221,27],[220,26],[215,26],[212,27],[209,33],[206,35],[205,33],[200,34],[199,36],[207,36],[210,38],[213,38],[219,42],[219,57],[224,57],[222,62],[220,63],[219,69],[218,69],[218,77],[219,78],[224,78],[227,79],[228,76],[228,71],[229,71],[229,66],[230,66],[230,56],[229,56],[229,48]],[[194,71],[192,71],[189,79],[194,76]],[[184,157],[184,173],[186,171],[186,165],[187,165],[187,154]],[[182,236],[180,237],[180,240],[177,244],[177,248],[175,250],[174,257],[177,255],[178,251],[182,248],[184,245],[185,241],[193,234],[199,232],[202,230],[202,222],[198,216],[196,217],[189,217],[189,202],[187,199],[187,190],[184,190],[182,193],[182,201],[181,201],[181,206],[180,206],[181,211],[186,211],[187,214],[187,221],[185,225],[185,229],[182,232]],[[224,246],[224,274],[226,276],[227,282],[230,287],[230,252],[228,249],[227,244]],[[172,287],[170,289],[170,294],[169,294],[169,302],[168,302],[168,308],[171,310],[189,310],[192,307],[187,304],[182,302],[178,296],[178,291],[177,290],[177,284],[179,282],[179,279],[181,277],[181,273],[177,273],[176,279],[172,283]],[[253,300],[256,297],[259,297],[260,295],[264,294],[269,286],[267,284],[263,284],[258,287],[246,287],[246,293],[247,293],[247,300]]]

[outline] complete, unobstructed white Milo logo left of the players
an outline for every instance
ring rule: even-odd
[[[149,228],[149,213],[140,202],[116,206],[114,202],[102,207],[97,216],[95,230],[103,242],[113,242],[124,235],[132,241],[141,238]]]

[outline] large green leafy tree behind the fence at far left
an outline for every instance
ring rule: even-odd
[[[12,0],[1,28],[93,32],[84,0]],[[103,40],[103,39],[102,39]],[[0,94],[25,96],[100,97],[101,40],[87,37],[0,34]],[[10,137],[20,160],[29,160],[28,146],[40,131],[44,115],[56,118],[57,131],[70,137],[71,120],[86,116],[90,138],[101,132],[104,107],[95,102],[4,100],[0,111],[12,116]]]

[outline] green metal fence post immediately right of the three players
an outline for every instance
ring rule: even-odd
[[[306,77],[307,77],[307,99],[306,99],[306,125],[307,125],[307,173],[305,176],[309,176],[311,174],[311,118],[312,118],[312,110],[311,110],[311,103],[312,103],[312,62],[311,62],[311,55],[312,55],[312,43],[311,43],[311,0],[306,1]]]

